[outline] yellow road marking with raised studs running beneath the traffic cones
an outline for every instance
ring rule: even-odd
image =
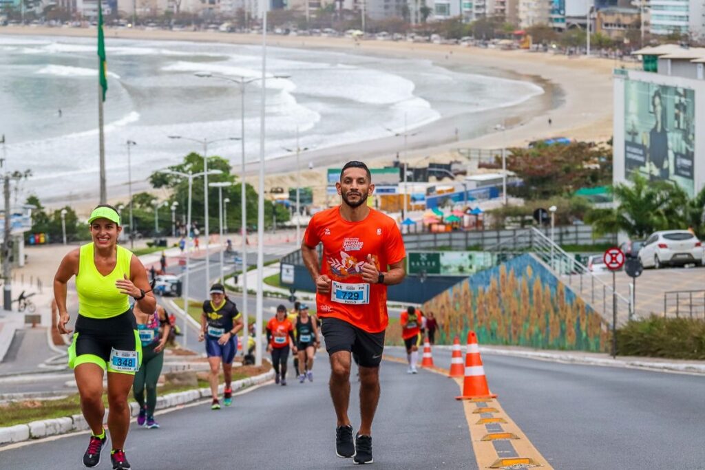
[[[384,355],[383,359],[391,362],[397,362],[399,364],[406,364],[407,361],[405,359],[401,359],[398,357],[391,357],[388,355]],[[424,368],[427,369],[428,371],[438,373],[443,376],[448,376],[448,369],[441,369],[440,367],[427,367]],[[458,384],[458,387],[460,388],[460,391],[462,392],[462,377],[457,377],[453,378],[455,383]],[[491,403],[489,403],[491,402]],[[480,403],[487,403],[491,404],[491,407],[479,407],[478,404]],[[492,414],[494,415],[492,418],[483,418],[483,419],[477,419],[477,409],[492,409],[494,410]],[[512,419],[509,417],[509,415],[504,411],[504,409],[501,407],[499,404],[499,400],[495,399],[487,399],[487,400],[462,400],[462,409],[463,412],[465,412],[465,419],[467,421],[467,427],[470,430],[470,441],[472,443],[472,450],[475,454],[475,459],[477,460],[477,468],[480,470],[484,469],[490,469],[490,468],[502,468],[502,466],[510,466],[510,465],[518,465],[522,464],[522,462],[526,462],[526,464],[529,465],[534,465],[534,466],[541,466],[541,469],[551,469],[553,470],[553,466],[548,464],[548,461],[544,458],[543,455],[541,455],[541,452],[537,450],[536,447],[527,439],[527,436],[523,431],[517,426],[517,424],[512,421]],[[494,448],[493,440],[482,440],[484,436],[486,436],[487,433],[487,428],[485,427],[485,424],[488,423],[488,421],[484,421],[485,419],[501,419],[503,420],[502,424],[502,431],[503,433],[509,433],[512,435],[515,435],[517,439],[513,439],[512,445],[517,452],[518,457],[515,458],[501,458],[497,454],[496,449]],[[499,422],[499,421],[494,421],[494,422]],[[513,464],[502,464],[502,462],[515,462]],[[494,466],[496,464],[501,464],[501,466]]]

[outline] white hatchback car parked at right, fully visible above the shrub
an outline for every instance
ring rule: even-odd
[[[703,265],[703,246],[688,230],[654,232],[639,249],[639,260],[644,268],[663,266]]]

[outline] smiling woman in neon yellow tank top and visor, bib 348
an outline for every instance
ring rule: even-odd
[[[97,206],[88,219],[92,243],[69,252],[54,277],[54,299],[59,306],[59,333],[71,333],[66,310],[66,284],[76,276],[78,318],[68,350],[69,365],[80,394],[81,409],[92,435],[83,455],[88,467],[100,463],[106,441],[103,429],[103,375],[108,371],[108,429],[113,469],[129,469],[123,447],[130,428],[128,393],[142,360],[142,345],[128,297],[142,311],[157,305],[150,292],[147,271],[140,259],[117,245],[122,231],[113,206]]]

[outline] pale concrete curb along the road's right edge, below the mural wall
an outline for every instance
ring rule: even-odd
[[[436,345],[440,350],[451,350],[451,346]],[[465,351],[465,347],[461,346]],[[564,364],[584,364],[587,366],[622,367],[624,369],[648,369],[651,371],[684,372],[705,375],[705,362],[697,364],[694,362],[666,362],[666,361],[644,361],[640,359],[612,359],[611,357],[589,357],[578,354],[568,354],[565,352],[549,351],[523,351],[523,350],[503,350],[494,347],[480,346],[482,354],[496,354],[497,356],[525,357],[526,359],[539,359],[542,361],[562,362]],[[465,354],[465,352],[463,352]]]

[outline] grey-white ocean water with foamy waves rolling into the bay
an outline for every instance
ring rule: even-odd
[[[198,78],[260,75],[260,47],[106,38],[109,90],[104,105],[109,185],[125,183],[126,140],[133,180],[178,163],[196,139],[240,137],[240,91]],[[32,170],[27,192],[71,199],[98,189],[97,62],[94,39],[0,35],[0,133],[11,170]],[[520,104],[544,92],[530,81],[449,70],[422,59],[269,47],[266,158],[284,147],[324,149],[387,137],[441,118]],[[247,85],[247,161],[259,159],[259,82]],[[61,109],[61,116],[59,116]],[[486,123],[464,123],[485,125]],[[390,130],[392,132],[390,132]],[[220,142],[209,154],[238,166],[240,142]]]

